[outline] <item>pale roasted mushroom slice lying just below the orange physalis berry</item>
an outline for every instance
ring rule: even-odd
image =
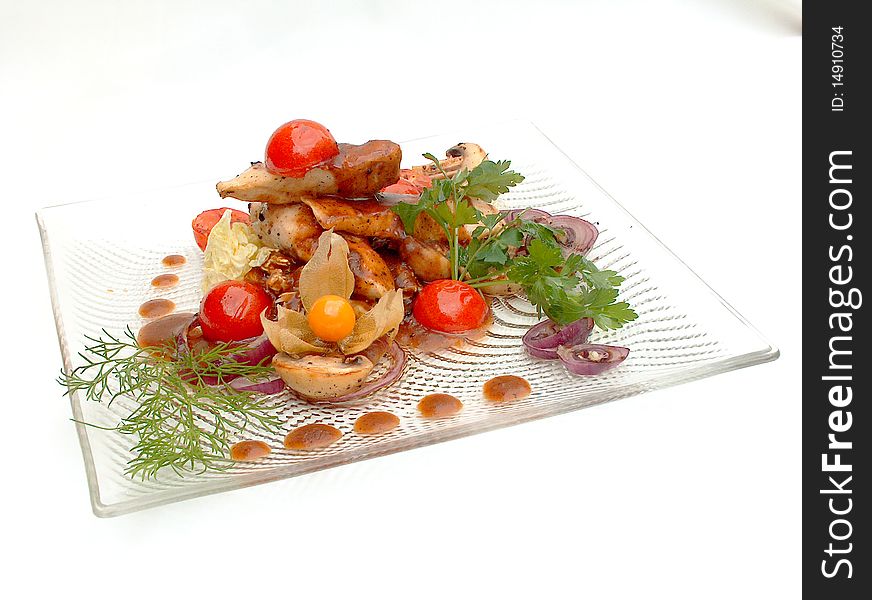
[[[375,368],[362,354],[295,358],[284,352],[273,357],[272,366],[291,390],[307,398],[335,398],[354,391]]]

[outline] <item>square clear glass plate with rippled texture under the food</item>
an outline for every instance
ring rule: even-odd
[[[778,357],[741,315],[639,224],[624,208],[555,147],[535,126],[509,123],[481,126],[461,135],[434,136],[402,144],[404,164],[421,162],[423,152],[437,155],[460,138],[484,146],[494,159],[512,160],[524,182],[498,201],[500,208],[536,207],[553,214],[581,216],[597,224],[600,237],[590,257],[600,268],[615,269],[626,281],[621,299],[639,313],[623,329],[592,336],[592,341],[627,346],[629,358],[596,377],[571,377],[558,361],[528,357],[521,336],[537,322],[532,307],[517,297],[493,301],[494,320],[483,339],[433,354],[410,355],[403,377],[356,407],[314,406],[287,399],[278,434],[249,430],[239,439],[262,439],[272,454],[228,471],[178,476],[161,473],[141,481],[124,474],[132,457],[132,438],[117,432],[76,425],[91,502],[98,516],[119,515],[177,500],[309,473],[352,461],[433,444],[481,431],[556,415],[708,377]],[[232,176],[225,173],[224,177]],[[233,200],[229,205],[233,206]],[[81,363],[84,336],[101,329],[120,333],[143,323],[143,301],[165,297],[178,310],[195,311],[200,300],[202,253],[194,244],[190,222],[201,210],[226,206],[214,182],[204,182],[112,200],[46,208],[37,214],[52,305],[64,368]],[[172,271],[179,285],[158,290],[150,285],[167,272],[161,259],[182,254],[187,263]],[[533,388],[526,399],[495,405],[482,398],[482,384],[501,374],[525,377]],[[427,420],[416,403],[431,392],[463,401],[450,418]],[[60,390],[59,390],[60,395]],[[116,425],[133,407],[119,399],[105,404],[71,398],[73,416],[105,427]],[[353,432],[364,412],[387,410],[400,426],[381,436]],[[285,450],[283,436],[312,422],[329,423],[344,436],[326,449],[299,453]]]

